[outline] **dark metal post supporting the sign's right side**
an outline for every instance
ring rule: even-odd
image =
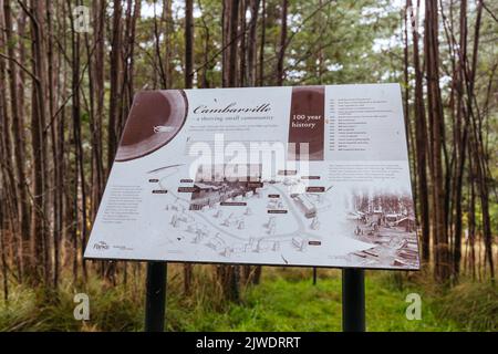
[[[365,332],[365,271],[342,270],[342,331]]]

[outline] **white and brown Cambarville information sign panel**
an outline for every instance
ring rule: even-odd
[[[138,93],[85,257],[418,269],[400,85]]]

